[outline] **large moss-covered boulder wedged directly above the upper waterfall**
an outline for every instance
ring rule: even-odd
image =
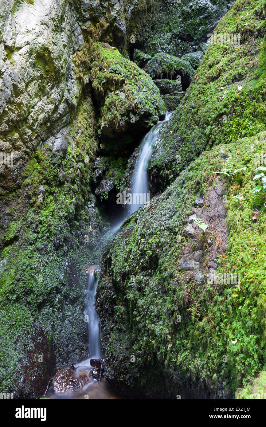
[[[145,132],[164,117],[166,108],[152,79],[109,44],[92,46],[90,77],[105,137]]]

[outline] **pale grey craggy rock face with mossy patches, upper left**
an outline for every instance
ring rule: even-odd
[[[5,0],[0,8],[0,150],[14,155],[13,167],[1,165],[1,185],[9,187],[37,144],[70,122],[81,89],[72,60],[83,37],[69,1]]]

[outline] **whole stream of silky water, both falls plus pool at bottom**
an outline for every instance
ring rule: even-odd
[[[134,199],[132,195],[132,203],[129,203],[126,209],[125,215],[120,219],[117,225],[112,229],[114,234],[120,226],[123,224],[129,215],[137,211],[138,208],[143,206],[146,202],[149,202],[149,182],[147,175],[147,167],[152,149],[157,141],[158,134],[161,127],[166,123],[172,115],[172,112],[167,113],[164,120],[159,121],[153,126],[149,132],[143,137],[142,143],[140,144],[140,152],[134,167],[132,175],[131,187],[132,193],[142,195],[141,200]],[[104,357],[101,345],[100,345],[100,322],[94,307],[94,298],[96,294],[96,288],[98,284],[99,265],[93,265],[89,267],[87,271],[88,281],[87,288],[85,291],[85,322],[88,322],[88,359],[82,360],[74,365],[76,369],[76,377],[82,377],[83,374],[88,374],[91,371],[92,366],[90,364],[91,359],[102,359]],[[50,399],[123,399],[124,397],[114,392],[109,383],[101,378],[100,381],[93,380],[86,386],[76,389],[68,390],[67,392],[53,392],[51,386],[47,390],[46,397]]]

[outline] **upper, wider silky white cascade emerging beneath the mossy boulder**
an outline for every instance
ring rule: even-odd
[[[149,183],[147,175],[149,158],[152,154],[152,149],[157,141],[161,127],[170,119],[171,115],[172,112],[167,113],[165,119],[153,126],[143,138],[140,145],[140,153],[132,175],[131,188],[133,195],[127,216],[137,211],[137,209],[143,206],[146,202],[149,202]]]

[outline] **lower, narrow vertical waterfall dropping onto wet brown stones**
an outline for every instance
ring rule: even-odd
[[[101,357],[100,348],[100,323],[94,307],[94,298],[98,284],[98,278],[94,271],[99,266],[91,266],[88,269],[88,284],[85,292],[85,316],[88,316],[88,357],[99,359]]]

